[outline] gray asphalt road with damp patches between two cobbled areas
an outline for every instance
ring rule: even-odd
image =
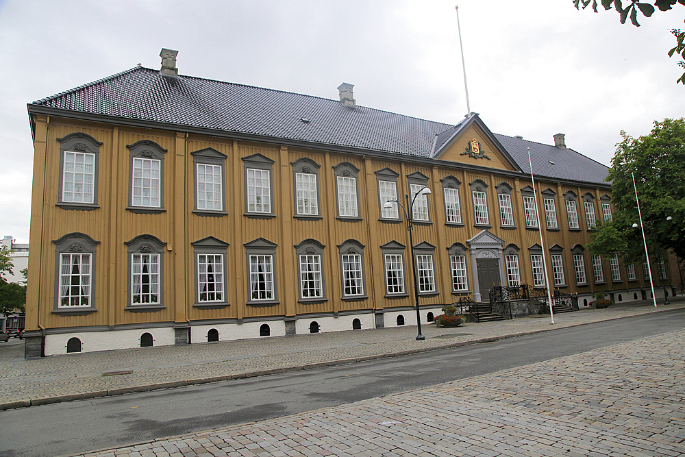
[[[338,367],[0,412],[0,456],[56,456],[260,421],[685,328],[682,310]]]

